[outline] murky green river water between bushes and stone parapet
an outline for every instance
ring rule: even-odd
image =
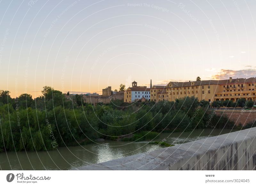
[[[231,129],[196,129],[193,132],[162,133],[154,141],[181,144],[208,136],[234,132]],[[102,141],[76,147],[59,147],[55,151],[1,152],[1,170],[68,170],[89,164],[123,158],[126,156],[163,148],[148,142]]]

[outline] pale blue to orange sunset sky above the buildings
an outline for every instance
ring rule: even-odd
[[[11,97],[256,76],[256,1],[0,0]]]

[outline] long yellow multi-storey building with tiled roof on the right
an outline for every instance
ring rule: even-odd
[[[151,101],[175,101],[182,97],[197,97],[209,102],[218,100],[237,101],[239,98],[256,101],[256,77],[228,80],[169,82],[166,86],[152,86]]]

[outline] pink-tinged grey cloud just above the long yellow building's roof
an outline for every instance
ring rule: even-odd
[[[212,75],[212,79],[222,80],[228,79],[229,77],[233,78],[249,78],[255,77],[256,68],[248,68],[244,70],[230,70],[230,69],[221,69],[219,73]]]

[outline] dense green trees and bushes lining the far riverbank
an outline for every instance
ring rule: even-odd
[[[80,95],[66,99],[44,87],[43,96],[11,98],[0,91],[0,151],[43,151],[92,143],[97,138],[140,141],[159,132],[194,128],[232,128],[234,123],[210,112],[209,102],[187,97],[176,102],[85,104]],[[206,125],[207,123],[207,125]],[[150,132],[145,132],[150,131]]]

